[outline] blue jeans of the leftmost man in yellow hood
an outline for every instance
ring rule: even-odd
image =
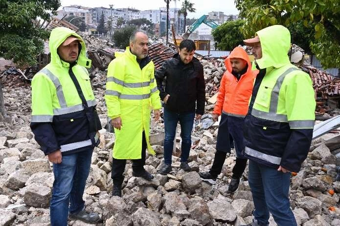
[[[83,194],[90,172],[92,151],[90,147],[82,152],[65,155],[61,164],[53,164],[51,226],[67,226],[68,211],[75,214],[84,208]]]

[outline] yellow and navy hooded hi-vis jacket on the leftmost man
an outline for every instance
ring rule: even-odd
[[[80,53],[76,64],[60,59],[57,48],[69,37],[80,40]],[[74,31],[58,27],[49,38],[51,62],[32,80],[31,129],[35,140],[45,155],[60,149],[62,154],[75,153],[94,147],[101,129],[95,111],[96,101],[92,92],[88,71],[91,60],[86,57],[85,43]],[[87,106],[82,103],[71,74],[78,81]]]

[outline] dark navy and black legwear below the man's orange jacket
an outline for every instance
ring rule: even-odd
[[[221,115],[220,125],[217,132],[216,153],[214,162],[210,169],[210,174],[217,177],[226,160],[227,153],[230,153],[232,138],[236,151],[236,164],[232,169],[232,177],[240,178],[247,166],[247,159],[242,155],[245,148],[243,143],[243,124],[244,118]]]

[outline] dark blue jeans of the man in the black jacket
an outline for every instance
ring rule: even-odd
[[[181,162],[187,162],[191,148],[191,130],[194,124],[195,112],[176,113],[164,108],[164,163],[171,164],[172,150],[176,135],[177,123],[181,124]]]

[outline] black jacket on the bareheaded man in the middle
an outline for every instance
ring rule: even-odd
[[[203,66],[196,58],[193,58],[190,63],[184,64],[177,53],[156,70],[155,78],[160,99],[163,100],[167,94],[170,95],[164,106],[166,109],[185,113],[195,111],[196,108],[196,114],[204,114],[205,82]]]

